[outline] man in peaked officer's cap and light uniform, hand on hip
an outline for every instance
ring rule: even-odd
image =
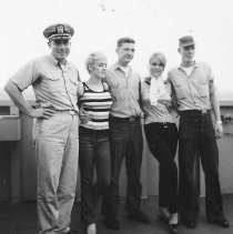
[[[44,29],[50,55],[30,61],[4,87],[13,103],[34,119],[40,234],[71,233],[79,155],[77,91],[80,80],[77,68],[67,61],[73,33],[73,28],[65,23]],[[30,85],[36,106],[22,95]]]

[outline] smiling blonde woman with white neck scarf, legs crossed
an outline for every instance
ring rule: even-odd
[[[171,114],[171,96],[161,74],[166,59],[163,53],[150,58],[150,73],[141,85],[144,131],[149,149],[160,163],[159,217],[169,222],[172,233],[178,233],[178,167],[174,162],[178,129]]]

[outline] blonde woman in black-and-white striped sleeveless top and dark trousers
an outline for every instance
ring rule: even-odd
[[[105,210],[105,191],[110,183],[111,154],[109,144],[109,112],[112,99],[105,78],[107,58],[91,53],[85,61],[90,73],[87,82],[79,85],[79,102],[84,110],[79,128],[81,172],[81,218],[88,234],[95,234],[95,203],[102,195],[102,214]],[[83,120],[84,119],[84,120]],[[93,184],[94,169],[97,183]]]

